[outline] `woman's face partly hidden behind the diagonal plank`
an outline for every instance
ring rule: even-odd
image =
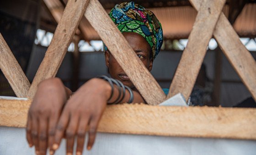
[[[133,48],[133,51],[136,52],[145,67],[147,67],[148,70],[151,71],[153,59],[150,58],[151,48],[149,46],[149,43],[144,39],[143,36],[135,32],[123,32],[123,36]],[[116,59],[109,51],[105,52],[105,58],[110,76],[112,78],[120,80],[124,85],[128,87],[134,88],[134,85],[130,81],[129,77],[126,75],[122,67],[117,63]]]

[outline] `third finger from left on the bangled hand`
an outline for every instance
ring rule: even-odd
[[[84,144],[85,144],[85,134],[86,134],[86,126],[89,122],[89,115],[82,114],[80,118],[80,122],[77,128],[77,147],[76,147],[76,155],[81,155],[83,153]]]

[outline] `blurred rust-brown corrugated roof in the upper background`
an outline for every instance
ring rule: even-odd
[[[104,0],[101,0],[104,1]],[[114,0],[112,0],[114,1]],[[111,1],[111,2],[112,2]],[[120,1],[120,0],[119,0]],[[142,0],[143,1],[143,0]],[[149,8],[162,24],[164,37],[168,39],[187,38],[194,24],[197,11],[190,5],[175,7]],[[109,12],[110,10],[107,10]],[[229,5],[224,5],[224,14],[228,17]],[[100,37],[87,21],[85,24],[87,40],[100,40]],[[239,36],[256,37],[256,4],[246,4],[234,23]]]

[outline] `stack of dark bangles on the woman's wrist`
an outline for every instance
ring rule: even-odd
[[[133,95],[132,89],[127,87],[127,86],[125,86],[125,85],[123,85],[123,83],[121,81],[119,81],[117,79],[113,79],[113,78],[108,78],[106,75],[99,75],[96,78],[101,78],[101,79],[107,81],[110,84],[110,86],[111,86],[111,94],[110,94],[110,97],[108,99],[107,104],[117,104],[117,103],[120,103],[123,100],[123,98],[125,97],[125,88],[130,93],[130,98],[129,98],[127,103],[132,103],[133,102],[134,95]],[[109,101],[113,97],[114,84],[117,85],[119,94],[118,94],[118,97],[117,97],[117,99],[115,101],[113,101],[112,103],[109,103]]]

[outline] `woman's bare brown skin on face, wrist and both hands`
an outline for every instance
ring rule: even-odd
[[[145,67],[151,71],[153,59],[150,58],[151,49],[148,42],[137,33],[125,32],[123,35]],[[111,53],[106,51],[105,57],[111,77],[133,89],[134,103],[145,103]],[[81,155],[86,130],[89,134],[87,149],[91,149],[97,125],[111,95],[111,87],[102,79],[92,78],[72,96],[71,94],[59,78],[44,80],[38,85],[27,120],[27,141],[30,147],[35,146],[37,155],[45,155],[48,147],[50,154],[54,154],[64,135],[67,140],[67,155],[72,155],[75,136],[76,154]],[[115,86],[110,102],[116,100],[118,94],[118,88]],[[128,102],[129,97],[126,90],[126,95],[120,103]]]

